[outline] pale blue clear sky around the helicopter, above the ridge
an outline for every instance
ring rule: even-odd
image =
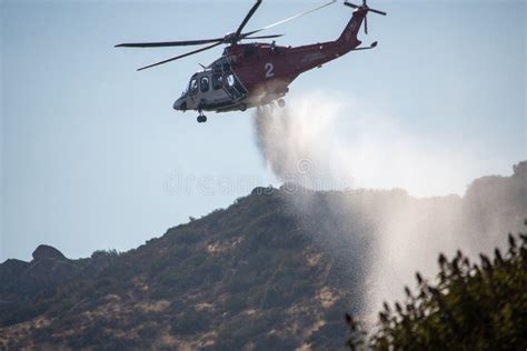
[[[320,3],[264,1],[247,29]],[[40,243],[70,258],[129,250],[256,185],[279,185],[257,150],[250,112],[208,113],[198,124],[196,113],[171,109],[198,63],[221,49],[136,72],[185,49],[113,48],[221,37],[251,4],[0,1],[0,262],[29,260]],[[379,47],[300,76],[288,100],[316,90],[358,101],[408,138],[469,156],[441,163],[455,181],[410,185],[410,194],[463,195],[475,178],[509,176],[527,159],[525,1],[369,6],[389,13],[370,14],[369,36],[360,34]],[[287,34],[278,44],[334,40],[350,16],[339,1],[268,33]],[[359,138],[352,121],[345,116],[339,132]],[[378,152],[389,157],[389,143]],[[359,183],[401,187],[386,173]]]

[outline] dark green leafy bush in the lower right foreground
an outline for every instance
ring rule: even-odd
[[[439,255],[436,285],[416,273],[418,292],[384,303],[378,329],[368,339],[347,314],[351,350],[526,350],[527,234],[508,237],[508,251],[474,264],[460,251]]]

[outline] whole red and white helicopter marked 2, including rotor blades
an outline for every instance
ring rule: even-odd
[[[377,41],[369,47],[359,47],[357,39],[364,23],[365,33],[368,33],[368,12],[386,16],[386,12],[368,7],[366,0],[355,4],[345,1],[344,4],[354,9],[351,19],[337,40],[318,42],[300,47],[284,47],[272,43],[251,42],[240,43],[242,40],[275,39],[284,34],[255,36],[276,26],[286,23],[301,16],[320,10],[336,2],[328,3],[295,14],[270,26],[243,32],[243,28],[260,7],[262,0],[257,0],[243,18],[236,32],[222,38],[169,42],[135,42],[120,43],[116,48],[160,48],[208,44],[203,48],[179,54],[177,57],[141,67],[138,71],[168,63],[185,57],[210,50],[220,44],[227,44],[222,56],[211,64],[202,67],[190,78],[183,93],[173,102],[178,111],[198,111],[199,123],[206,122],[203,111],[246,111],[248,108],[266,104],[286,106],[284,97],[289,92],[289,84],[300,74],[324,63],[335,60],[350,51],[368,50],[377,47]]]

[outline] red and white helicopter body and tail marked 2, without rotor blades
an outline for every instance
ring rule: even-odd
[[[357,50],[361,43],[357,32],[366,13],[356,10],[341,36],[334,41],[301,47],[231,44],[225,49],[221,58],[191,77],[187,90],[173,103],[173,109],[245,111],[279,100],[302,72]]]

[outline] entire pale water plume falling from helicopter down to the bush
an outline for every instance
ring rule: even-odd
[[[509,213],[483,210],[479,193],[464,198],[467,185],[483,176],[475,176],[474,154],[420,138],[396,118],[348,97],[310,92],[285,109],[259,108],[253,127],[262,160],[278,180],[349,194],[330,201],[330,213],[314,211],[310,197],[291,192],[289,200],[309,222],[306,227],[331,217],[342,228],[337,235],[370,237],[361,302],[369,325],[382,301],[401,299],[405,285],[415,287],[416,271],[434,280],[440,252],[454,255],[461,249],[471,258],[490,252],[507,231],[519,230],[527,214],[527,204],[514,194],[499,200],[504,208],[514,204]],[[359,188],[382,189],[386,195],[358,195],[354,190]],[[330,237],[324,230],[318,235]]]

